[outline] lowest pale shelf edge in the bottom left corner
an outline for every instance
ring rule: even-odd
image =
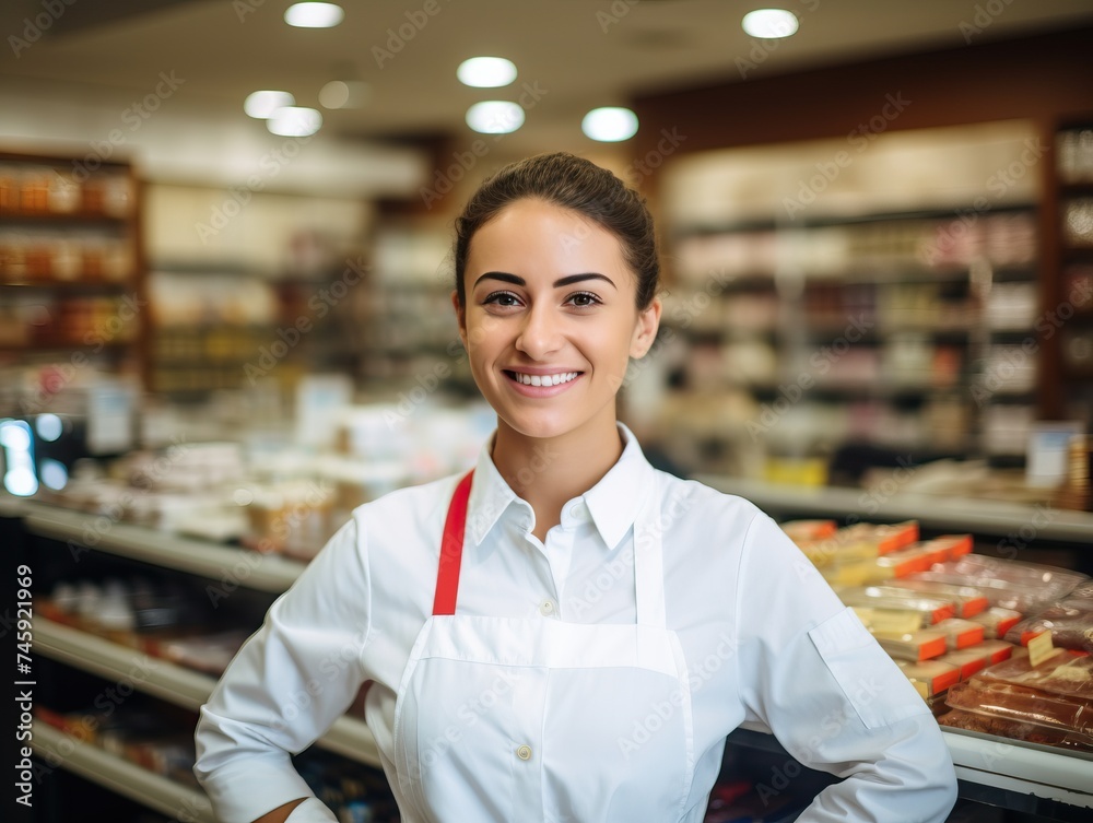
[[[136,800],[173,820],[216,823],[209,798],[201,791],[162,777],[97,746],[82,743],[40,721],[34,724],[35,754],[62,768]]]

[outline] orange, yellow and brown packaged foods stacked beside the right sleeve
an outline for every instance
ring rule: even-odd
[[[784,529],[939,722],[1093,751],[1088,577],[971,554],[963,536],[908,545],[909,524],[836,529],[832,521],[810,520]]]

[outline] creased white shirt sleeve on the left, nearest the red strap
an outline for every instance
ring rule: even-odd
[[[314,796],[291,755],[321,736],[364,682],[369,600],[365,553],[351,520],[270,607],[201,707],[193,772],[218,820],[250,823]],[[336,819],[314,801],[291,820]]]

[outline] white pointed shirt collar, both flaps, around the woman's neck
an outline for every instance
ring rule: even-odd
[[[565,517],[566,509],[584,503],[592,524],[609,549],[619,544],[637,519],[637,514],[645,502],[645,493],[653,482],[654,472],[634,433],[622,423],[616,425],[625,443],[619,460],[595,486],[580,497],[566,503],[563,509]],[[467,529],[475,545],[485,539],[501,516],[514,503],[522,505],[530,513],[530,506],[517,496],[494,466],[490,456],[492,446],[493,437],[490,437],[479,452],[474,482],[471,485]]]

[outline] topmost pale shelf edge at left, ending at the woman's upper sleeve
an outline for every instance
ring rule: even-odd
[[[84,545],[86,533],[101,534],[102,517],[71,512],[36,501],[21,501],[17,508],[34,534],[71,540]],[[281,593],[304,569],[304,564],[277,554],[259,554],[244,549],[180,538],[143,526],[114,522],[98,541],[89,546],[129,560],[151,563],[214,580],[227,579],[259,591]]]

